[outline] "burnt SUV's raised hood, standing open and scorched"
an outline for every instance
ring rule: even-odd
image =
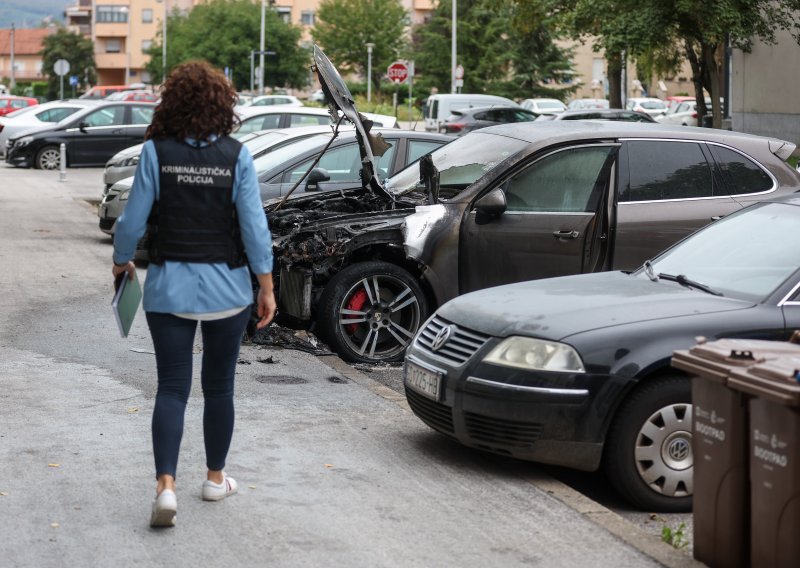
[[[356,138],[361,148],[361,179],[364,187],[376,195],[381,195],[394,201],[392,195],[384,189],[375,174],[377,171],[375,156],[383,155],[388,146],[380,137],[372,136],[369,133],[372,128],[372,121],[356,110],[350,89],[347,88],[328,56],[317,45],[314,45],[314,71],[317,73],[327,100],[330,101],[331,116],[334,121],[338,120],[338,113],[336,112],[338,110],[355,126]]]

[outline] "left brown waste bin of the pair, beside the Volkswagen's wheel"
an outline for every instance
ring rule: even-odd
[[[800,345],[700,340],[673,354],[672,366],[692,376],[693,548],[694,557],[709,566],[750,566],[749,397],[729,388],[729,378],[787,355],[800,357]]]

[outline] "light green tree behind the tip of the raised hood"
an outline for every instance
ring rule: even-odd
[[[322,0],[314,41],[340,71],[367,76],[367,43],[372,48],[372,85],[380,92],[385,69],[406,45],[408,15],[399,0]]]

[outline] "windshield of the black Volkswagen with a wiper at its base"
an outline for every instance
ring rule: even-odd
[[[724,296],[762,301],[800,268],[800,247],[787,238],[799,231],[800,207],[762,203],[668,250],[653,260],[653,272],[683,275]]]

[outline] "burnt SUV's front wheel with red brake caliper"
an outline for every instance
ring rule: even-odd
[[[425,294],[407,270],[388,262],[360,262],[328,282],[317,332],[346,361],[401,361],[427,313]]]

